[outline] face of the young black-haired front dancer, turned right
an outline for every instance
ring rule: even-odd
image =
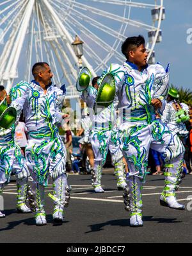
[[[129,56],[131,57],[132,62],[138,67],[144,67],[147,64],[148,53],[143,44],[130,51]]]

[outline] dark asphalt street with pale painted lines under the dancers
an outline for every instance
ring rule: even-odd
[[[191,243],[192,175],[182,181],[177,198],[188,209],[173,210],[159,204],[163,175],[148,176],[143,187],[144,226],[129,226],[129,212],[124,210],[122,191],[116,190],[113,169],[104,169],[102,194],[95,194],[90,175],[68,175],[72,185],[70,205],[63,225],[52,223],[51,184],[45,189],[47,225],[36,226],[34,213],[19,214],[16,184],[4,188],[6,218],[0,219],[0,243]]]

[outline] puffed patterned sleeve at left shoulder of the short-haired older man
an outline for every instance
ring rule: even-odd
[[[12,87],[10,90],[10,97],[12,103],[10,107],[14,107],[17,110],[17,121],[19,121],[20,113],[24,107],[24,103],[29,96],[29,83],[25,81],[20,81]]]

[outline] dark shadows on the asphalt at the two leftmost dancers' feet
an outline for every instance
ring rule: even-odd
[[[16,211],[16,210],[15,210]],[[13,213],[13,210],[4,210],[4,214],[6,213]],[[10,214],[6,214],[6,216],[8,216]],[[22,214],[20,214],[22,215]],[[20,219],[18,221],[11,221],[11,222],[8,222],[8,226],[6,226],[6,228],[1,228],[0,229],[0,232],[1,231],[6,231],[6,230],[12,230],[13,228],[15,228],[15,226],[18,226],[20,224],[24,224],[24,225],[28,225],[28,226],[36,226],[35,225],[35,216],[33,216],[33,218],[27,218],[27,219]],[[3,219],[6,219],[6,218],[3,218]],[[47,219],[47,224],[52,224],[52,226],[60,226],[62,225],[62,223],[54,223],[52,221],[52,215],[51,214],[47,214],[46,215],[46,219]],[[64,221],[63,224],[65,223],[68,223],[68,221]]]

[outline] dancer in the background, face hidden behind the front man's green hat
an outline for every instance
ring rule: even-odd
[[[101,186],[102,166],[106,162],[108,149],[115,166],[117,176],[117,188],[123,189],[126,185],[124,177],[123,155],[120,149],[120,138],[116,129],[116,104],[109,105],[99,112],[94,112],[94,102],[97,96],[97,84],[99,76],[93,78],[92,85],[81,93],[81,99],[88,105],[92,128],[90,132],[90,142],[94,153],[94,168],[92,170],[92,185],[96,193],[104,192]]]

